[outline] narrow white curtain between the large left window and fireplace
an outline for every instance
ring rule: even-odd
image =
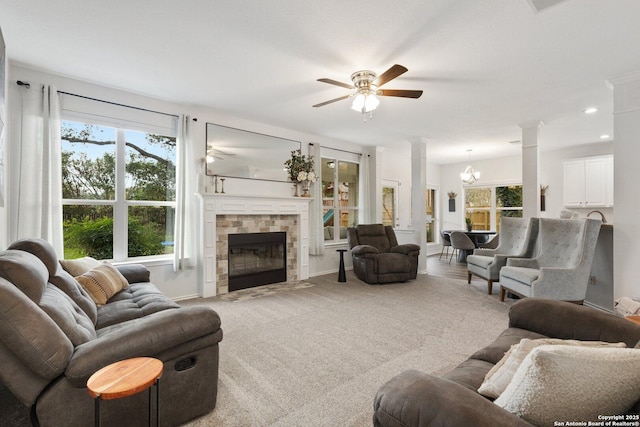
[[[190,119],[181,115],[176,138],[176,215],[174,225],[173,271],[186,267],[187,236],[186,218],[189,217],[189,198],[187,197],[187,153],[191,146]]]

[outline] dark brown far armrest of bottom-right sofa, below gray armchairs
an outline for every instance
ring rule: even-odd
[[[551,338],[624,342],[640,340],[640,326],[604,311],[564,301],[525,298],[509,309],[509,327]]]

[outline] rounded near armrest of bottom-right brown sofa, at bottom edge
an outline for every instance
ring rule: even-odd
[[[531,427],[458,383],[415,370],[404,371],[380,387],[373,408],[376,427]]]

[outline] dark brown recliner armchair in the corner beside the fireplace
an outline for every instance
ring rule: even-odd
[[[420,246],[398,245],[391,226],[367,224],[347,229],[356,276],[369,284],[405,282],[418,272]]]

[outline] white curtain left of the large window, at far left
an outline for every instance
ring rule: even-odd
[[[15,208],[10,218],[10,240],[39,237],[49,241],[63,258],[62,156],[60,102],[55,87],[31,83],[21,86],[22,111],[15,179],[11,191]],[[12,179],[12,181],[13,181]]]

